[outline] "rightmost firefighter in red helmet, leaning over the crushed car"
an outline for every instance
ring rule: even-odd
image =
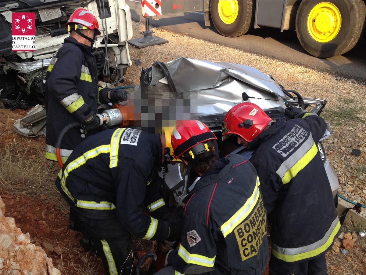
[[[272,222],[270,274],[327,274],[325,253],[340,229],[317,144],[326,130],[314,113],[291,106],[290,120],[272,120],[253,103],[232,107],[223,135],[255,150],[250,162],[261,181]]]

